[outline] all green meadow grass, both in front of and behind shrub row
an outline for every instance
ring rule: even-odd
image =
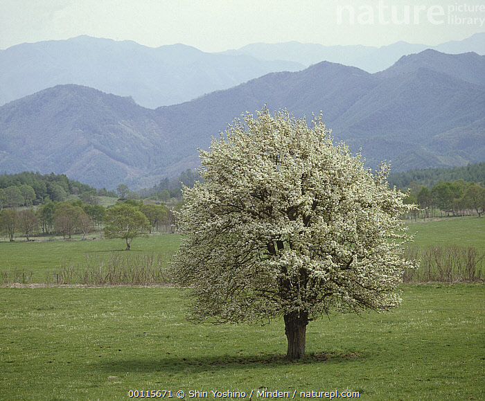
[[[418,247],[485,251],[485,220],[409,224]],[[162,253],[179,235],[136,238],[130,255]],[[0,242],[0,270],[29,269],[33,283],[66,263],[126,254],[123,240]],[[103,259],[105,258],[105,259]],[[0,287],[1,400],[127,400],[130,391],[358,391],[366,400],[483,400],[483,283],[401,285],[385,314],[310,322],[308,358],[283,360],[282,319],[269,325],[197,326],[166,286]],[[295,392],[296,391],[296,392]],[[202,397],[194,397],[198,399]],[[219,397],[220,398],[220,397]]]

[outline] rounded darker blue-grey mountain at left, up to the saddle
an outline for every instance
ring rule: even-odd
[[[158,162],[170,147],[168,127],[131,98],[73,84],[44,89],[0,107],[0,152],[8,156],[0,171],[26,164],[113,188]]]

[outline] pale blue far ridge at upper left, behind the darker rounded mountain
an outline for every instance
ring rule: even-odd
[[[150,48],[80,36],[19,44],[0,50],[0,105],[57,84],[80,84],[144,107],[173,105],[227,89],[272,71],[299,71],[302,64],[258,60],[251,55],[204,53],[174,44]]]

